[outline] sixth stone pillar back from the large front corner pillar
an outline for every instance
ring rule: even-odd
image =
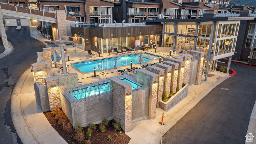
[[[178,60],[178,59],[175,59],[175,58],[169,58],[169,57],[164,57],[163,59],[164,59],[164,61],[168,60],[168,61],[171,61],[171,62],[179,64],[177,86],[179,86],[179,89],[181,89],[182,88],[182,83],[183,83],[185,61]]]

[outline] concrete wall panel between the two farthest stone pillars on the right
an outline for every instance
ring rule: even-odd
[[[198,59],[191,60],[190,71],[189,71],[189,79],[188,79],[188,85],[189,86],[196,84],[198,62],[199,62]]]

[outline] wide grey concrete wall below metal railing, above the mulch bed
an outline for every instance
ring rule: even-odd
[[[67,112],[69,112],[69,109],[66,109]],[[109,92],[97,97],[88,98],[79,102],[73,102],[71,103],[71,109],[73,127],[76,126],[79,122],[81,122],[82,127],[87,127],[89,126],[90,122],[100,124],[103,122],[104,118],[112,120],[113,94],[112,92]]]

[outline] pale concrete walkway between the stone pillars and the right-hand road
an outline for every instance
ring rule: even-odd
[[[188,95],[168,111],[157,108],[156,118],[132,123],[132,131],[126,133],[131,138],[129,144],[159,143],[162,135],[172,128],[180,118],[204,98],[208,92],[230,77],[219,71],[211,74],[214,74],[215,76],[208,77],[208,81],[206,82],[203,81],[204,76],[202,76],[201,85],[189,86]],[[163,111],[163,122],[165,125],[162,127],[159,122],[161,122]]]

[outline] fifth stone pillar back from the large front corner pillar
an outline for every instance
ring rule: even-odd
[[[164,61],[164,64],[172,66],[172,76],[171,76],[172,78],[171,78],[170,89],[173,90],[173,93],[176,93],[179,64],[171,62],[171,61]]]

